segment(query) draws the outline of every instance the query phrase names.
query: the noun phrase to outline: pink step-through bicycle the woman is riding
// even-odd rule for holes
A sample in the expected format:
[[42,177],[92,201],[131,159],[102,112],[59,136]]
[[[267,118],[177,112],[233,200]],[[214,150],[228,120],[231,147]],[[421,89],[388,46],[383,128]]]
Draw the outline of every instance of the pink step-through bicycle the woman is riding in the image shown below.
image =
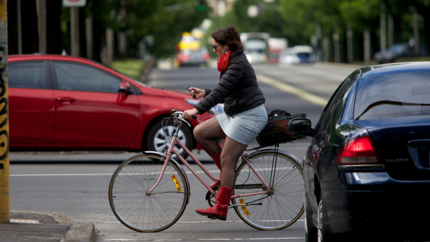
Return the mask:
[[[160,232],[173,225],[189,202],[190,188],[184,170],[171,158],[175,154],[207,188],[206,199],[214,205],[217,187],[209,185],[176,151],[183,148],[198,166],[217,180],[178,140],[183,112],[173,110],[176,132],[169,150],[146,151],[123,162],[112,175],[109,202],[115,216],[132,230]],[[167,144],[168,141],[166,141]],[[261,148],[261,147],[259,147]],[[282,230],[292,225],[304,211],[302,165],[296,157],[275,149],[241,155],[236,165],[236,184],[230,208],[248,225],[259,230]]]

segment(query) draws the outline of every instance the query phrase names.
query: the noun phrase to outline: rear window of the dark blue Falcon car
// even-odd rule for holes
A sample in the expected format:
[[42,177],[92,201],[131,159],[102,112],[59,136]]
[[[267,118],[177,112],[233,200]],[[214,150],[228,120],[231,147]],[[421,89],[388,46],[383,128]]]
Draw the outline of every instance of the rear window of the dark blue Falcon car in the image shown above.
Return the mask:
[[354,119],[430,115],[430,72],[370,76],[359,80]]

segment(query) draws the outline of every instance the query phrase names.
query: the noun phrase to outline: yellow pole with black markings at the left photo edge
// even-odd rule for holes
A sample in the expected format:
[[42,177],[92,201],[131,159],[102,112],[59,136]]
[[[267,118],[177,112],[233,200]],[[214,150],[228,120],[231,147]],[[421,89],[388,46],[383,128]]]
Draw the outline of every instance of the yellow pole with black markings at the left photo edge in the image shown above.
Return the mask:
[[8,123],[8,8],[0,0],[0,223],[10,222]]

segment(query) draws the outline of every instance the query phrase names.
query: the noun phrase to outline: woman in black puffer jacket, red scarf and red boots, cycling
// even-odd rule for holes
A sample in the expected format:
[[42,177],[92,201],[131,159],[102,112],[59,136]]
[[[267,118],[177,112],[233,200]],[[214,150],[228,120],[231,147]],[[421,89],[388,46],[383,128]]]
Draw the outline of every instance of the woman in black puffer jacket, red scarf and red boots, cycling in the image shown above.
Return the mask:
[[[229,26],[212,33],[212,46],[218,55],[218,84],[213,90],[190,87],[190,96],[203,99],[192,110],[184,111],[183,117],[191,119],[195,114],[203,114],[218,103],[224,103],[224,114],[200,123],[193,133],[221,170],[216,205],[196,209],[196,212],[225,220],[236,180],[236,161],[266,126],[268,117],[264,107],[266,99],[258,87],[254,69],[243,53],[243,44],[236,28]],[[216,139],[225,139],[223,149]],[[210,187],[216,185],[219,185],[218,182]]]

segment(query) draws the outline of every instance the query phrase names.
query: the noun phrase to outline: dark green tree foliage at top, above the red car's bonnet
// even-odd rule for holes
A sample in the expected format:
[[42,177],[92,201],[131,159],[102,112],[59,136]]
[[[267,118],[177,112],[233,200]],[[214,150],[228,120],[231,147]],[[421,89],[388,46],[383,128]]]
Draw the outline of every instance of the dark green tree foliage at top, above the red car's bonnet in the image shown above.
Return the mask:
[[[101,21],[103,28],[127,31],[131,53],[135,53],[139,42],[146,35],[153,35],[151,53],[166,57],[175,53],[183,32],[202,23],[207,18],[209,7],[199,11],[198,6],[188,6],[193,0],[89,0],[87,15]],[[166,6],[182,4],[182,8],[167,11]],[[200,6],[201,8],[201,6]],[[201,10],[201,9],[200,9]]]

